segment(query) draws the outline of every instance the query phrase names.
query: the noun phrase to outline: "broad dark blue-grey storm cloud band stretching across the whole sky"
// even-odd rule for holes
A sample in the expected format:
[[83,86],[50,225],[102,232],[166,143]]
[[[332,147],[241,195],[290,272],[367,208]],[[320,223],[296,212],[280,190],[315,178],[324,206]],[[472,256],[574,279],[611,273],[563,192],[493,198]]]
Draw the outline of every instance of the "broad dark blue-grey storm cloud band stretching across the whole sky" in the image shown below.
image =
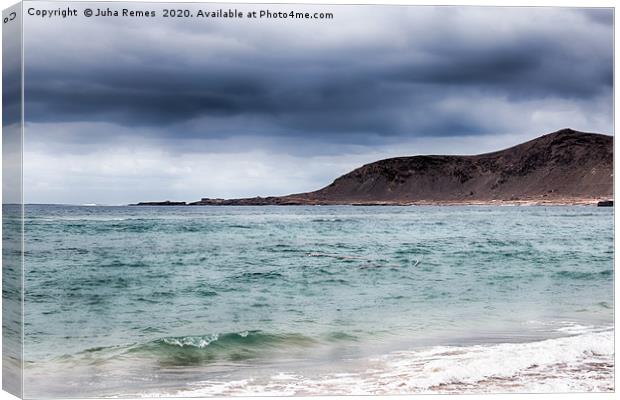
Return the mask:
[[[385,136],[505,128],[463,106],[446,106],[448,99],[472,109],[494,98],[578,106],[611,99],[613,27],[605,25],[611,10],[533,9],[531,24],[527,18],[513,24],[505,9],[476,10],[473,17],[445,13],[433,11],[424,35],[407,24],[393,27],[388,15],[378,23],[379,39],[323,47],[281,33],[254,41],[247,28],[219,33],[246,50],[200,42],[193,52],[174,50],[186,46],[175,36],[186,33],[177,25],[168,25],[159,43],[134,32],[135,47],[127,37],[111,36],[114,52],[90,49],[87,60],[52,55],[27,65],[26,116],[38,123],[152,127],[153,135],[175,139],[285,134],[369,144]],[[314,29],[310,35],[322,33]],[[37,46],[43,44],[26,51]]]

